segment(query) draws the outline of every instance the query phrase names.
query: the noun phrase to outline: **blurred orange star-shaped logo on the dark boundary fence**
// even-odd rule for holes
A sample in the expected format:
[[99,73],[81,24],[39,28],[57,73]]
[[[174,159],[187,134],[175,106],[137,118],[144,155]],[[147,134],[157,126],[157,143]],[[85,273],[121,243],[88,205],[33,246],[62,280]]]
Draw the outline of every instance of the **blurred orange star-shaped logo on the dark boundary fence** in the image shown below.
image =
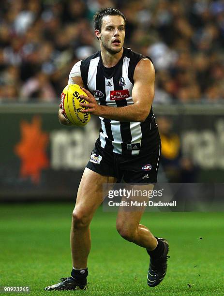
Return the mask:
[[48,134],[41,131],[41,118],[34,116],[32,122],[22,120],[20,123],[21,140],[15,146],[15,153],[21,159],[20,177],[30,177],[37,184],[41,170],[49,166],[46,155]]

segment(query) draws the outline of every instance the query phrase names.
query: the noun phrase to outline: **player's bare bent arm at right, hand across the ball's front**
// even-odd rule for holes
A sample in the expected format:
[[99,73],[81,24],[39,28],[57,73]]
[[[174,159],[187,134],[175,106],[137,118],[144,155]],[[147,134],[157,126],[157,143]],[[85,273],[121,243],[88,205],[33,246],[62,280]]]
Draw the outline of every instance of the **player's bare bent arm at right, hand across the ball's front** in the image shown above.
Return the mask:
[[87,93],[87,97],[81,97],[90,104],[80,104],[88,107],[82,112],[90,112],[96,116],[118,121],[145,121],[154,98],[155,69],[152,62],[147,58],[141,59],[135,67],[133,78],[132,99],[134,104],[119,108],[98,105],[93,95],[83,89]]

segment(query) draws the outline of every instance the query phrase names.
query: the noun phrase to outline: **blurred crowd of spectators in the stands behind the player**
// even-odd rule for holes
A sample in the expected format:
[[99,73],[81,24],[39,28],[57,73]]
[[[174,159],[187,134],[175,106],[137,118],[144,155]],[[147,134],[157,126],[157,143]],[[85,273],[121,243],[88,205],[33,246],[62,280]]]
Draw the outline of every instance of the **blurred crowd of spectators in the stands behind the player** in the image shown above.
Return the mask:
[[125,46],[153,60],[155,102],[224,102],[224,0],[1,1],[0,101],[58,102],[74,63],[99,50],[103,7],[126,15]]

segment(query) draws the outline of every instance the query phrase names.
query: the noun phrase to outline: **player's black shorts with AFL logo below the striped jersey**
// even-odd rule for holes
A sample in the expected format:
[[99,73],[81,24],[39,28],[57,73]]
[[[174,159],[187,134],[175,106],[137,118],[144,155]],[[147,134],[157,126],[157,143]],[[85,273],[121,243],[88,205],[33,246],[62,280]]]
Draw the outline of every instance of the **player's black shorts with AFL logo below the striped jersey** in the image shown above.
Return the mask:
[[108,152],[96,142],[86,167],[100,175],[115,177],[118,182],[156,183],[160,156],[160,143],[153,152],[126,156]]

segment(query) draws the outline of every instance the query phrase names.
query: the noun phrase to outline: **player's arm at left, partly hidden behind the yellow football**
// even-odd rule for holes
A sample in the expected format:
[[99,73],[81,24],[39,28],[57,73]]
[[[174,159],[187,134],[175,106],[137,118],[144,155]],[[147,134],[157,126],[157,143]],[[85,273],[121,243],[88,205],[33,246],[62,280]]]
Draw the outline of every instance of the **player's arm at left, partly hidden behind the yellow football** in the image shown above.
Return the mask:
[[[80,64],[81,61],[77,62],[70,74],[69,74],[69,84],[75,83],[79,85],[81,88],[84,88],[84,83],[81,77],[81,72],[80,72]],[[62,105],[60,104],[59,108],[59,122],[63,125],[72,125],[72,123],[65,117],[64,111],[62,110]]]

